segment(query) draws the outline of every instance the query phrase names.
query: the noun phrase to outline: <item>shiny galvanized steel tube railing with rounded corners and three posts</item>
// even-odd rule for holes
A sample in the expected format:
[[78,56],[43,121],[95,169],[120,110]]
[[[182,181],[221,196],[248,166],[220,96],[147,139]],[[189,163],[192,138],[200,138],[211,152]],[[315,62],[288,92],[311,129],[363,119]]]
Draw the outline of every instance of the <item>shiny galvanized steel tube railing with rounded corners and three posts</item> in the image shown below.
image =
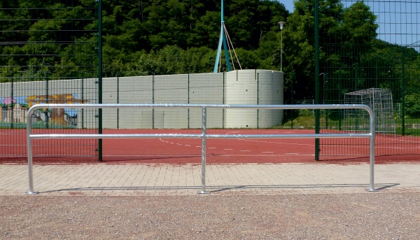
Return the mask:
[[[31,115],[38,108],[202,108],[201,134],[32,134]],[[207,134],[207,108],[253,108],[253,109],[364,109],[369,113],[370,130],[366,134]],[[369,138],[370,139],[370,181],[367,191],[374,189],[374,113],[372,108],[363,104],[313,104],[313,105],[229,105],[229,104],[36,104],[27,112],[27,150],[29,191],[34,195],[34,177],[32,162],[32,139],[202,139],[202,176],[201,190],[206,191],[206,139],[338,139]]]

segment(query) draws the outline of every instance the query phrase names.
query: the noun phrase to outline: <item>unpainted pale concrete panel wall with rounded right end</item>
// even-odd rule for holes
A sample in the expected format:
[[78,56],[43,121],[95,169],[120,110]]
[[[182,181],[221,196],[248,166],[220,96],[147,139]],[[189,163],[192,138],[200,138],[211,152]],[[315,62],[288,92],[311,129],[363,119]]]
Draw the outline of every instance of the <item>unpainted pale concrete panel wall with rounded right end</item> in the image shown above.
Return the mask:
[[[10,83],[0,84],[0,97],[10,97]],[[283,104],[283,73],[239,70],[228,73],[179,74],[103,78],[104,104]],[[97,103],[97,79],[49,80],[13,84],[13,96],[76,94]],[[97,109],[78,109],[79,128],[97,128]],[[201,128],[199,108],[104,109],[104,129]],[[282,110],[207,110],[209,128],[272,127],[281,122]]]

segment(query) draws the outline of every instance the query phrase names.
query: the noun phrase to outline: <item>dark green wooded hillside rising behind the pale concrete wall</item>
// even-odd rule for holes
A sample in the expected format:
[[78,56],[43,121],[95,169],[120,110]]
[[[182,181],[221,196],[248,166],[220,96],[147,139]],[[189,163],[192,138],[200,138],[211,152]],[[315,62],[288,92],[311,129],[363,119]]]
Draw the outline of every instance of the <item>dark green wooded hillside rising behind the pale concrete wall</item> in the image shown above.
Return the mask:
[[[243,69],[279,70],[278,22],[285,21],[283,71],[294,74],[293,83],[300,86],[297,99],[313,99],[314,1],[294,4],[289,13],[279,1],[226,0],[225,24]],[[103,0],[102,6],[104,76],[213,71],[220,0]],[[54,78],[78,77],[82,66],[97,65],[94,0],[1,0],[0,8],[2,76],[31,71],[40,78],[44,72]],[[407,74],[419,79],[419,52],[378,40],[377,17],[363,1],[344,8],[339,0],[319,0],[319,14],[321,69],[349,69],[375,59],[378,66],[393,69],[411,66]],[[402,52],[411,56],[404,63],[398,62]],[[383,74],[390,75],[384,85],[391,86],[402,73]],[[288,76],[286,91],[291,84]]]

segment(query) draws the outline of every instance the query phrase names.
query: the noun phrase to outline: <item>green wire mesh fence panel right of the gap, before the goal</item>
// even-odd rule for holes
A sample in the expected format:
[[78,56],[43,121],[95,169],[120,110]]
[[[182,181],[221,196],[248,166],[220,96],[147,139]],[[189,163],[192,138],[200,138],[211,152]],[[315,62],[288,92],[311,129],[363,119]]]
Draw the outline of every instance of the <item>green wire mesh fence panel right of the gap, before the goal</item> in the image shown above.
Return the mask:
[[[377,155],[420,154],[420,2],[342,4],[346,10],[339,15],[323,13],[342,25],[319,34],[321,103],[371,106]],[[320,132],[364,132],[367,119],[357,111],[322,111],[319,123]],[[356,155],[368,144],[322,139],[318,149],[320,156]]]

